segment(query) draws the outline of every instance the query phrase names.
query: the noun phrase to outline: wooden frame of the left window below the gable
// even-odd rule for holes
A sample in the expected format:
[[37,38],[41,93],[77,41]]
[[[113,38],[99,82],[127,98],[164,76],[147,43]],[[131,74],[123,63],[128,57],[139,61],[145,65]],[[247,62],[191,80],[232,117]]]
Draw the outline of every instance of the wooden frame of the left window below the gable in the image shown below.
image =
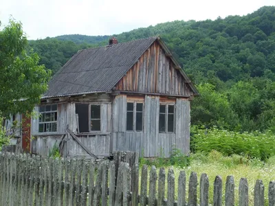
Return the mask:
[[[133,103],[133,130],[127,129],[128,103]],[[137,111],[137,104],[142,104],[142,111]],[[130,112],[130,111],[129,111]],[[137,113],[142,113],[142,130],[137,130]],[[144,131],[144,102],[127,100],[126,102],[126,132],[142,133]]]

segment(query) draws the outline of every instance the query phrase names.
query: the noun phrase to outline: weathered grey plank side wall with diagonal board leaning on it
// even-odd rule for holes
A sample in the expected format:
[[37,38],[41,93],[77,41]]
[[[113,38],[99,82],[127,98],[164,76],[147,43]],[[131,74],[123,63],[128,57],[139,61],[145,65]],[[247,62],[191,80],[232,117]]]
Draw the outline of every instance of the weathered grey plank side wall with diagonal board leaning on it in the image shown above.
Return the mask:
[[[101,131],[94,133],[78,134],[78,124],[76,120],[76,103],[100,103],[101,111]],[[38,113],[38,106],[35,111]],[[56,133],[39,133],[39,119],[32,118],[32,152],[42,156],[47,156],[54,144],[57,146],[63,135],[67,135],[66,128],[77,135],[78,140],[84,144],[91,153],[101,156],[109,156],[110,134],[111,134],[111,100],[109,95],[88,95],[72,98],[70,102],[58,104],[58,121]],[[66,156],[89,156],[72,137],[67,135]]]

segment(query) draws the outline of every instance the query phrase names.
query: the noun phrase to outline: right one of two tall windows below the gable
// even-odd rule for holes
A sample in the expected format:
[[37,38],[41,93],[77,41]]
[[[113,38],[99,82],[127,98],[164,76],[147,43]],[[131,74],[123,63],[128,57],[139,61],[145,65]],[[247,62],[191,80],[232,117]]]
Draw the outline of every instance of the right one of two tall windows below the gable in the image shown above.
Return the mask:
[[170,104],[159,105],[159,133],[174,133],[175,106]]

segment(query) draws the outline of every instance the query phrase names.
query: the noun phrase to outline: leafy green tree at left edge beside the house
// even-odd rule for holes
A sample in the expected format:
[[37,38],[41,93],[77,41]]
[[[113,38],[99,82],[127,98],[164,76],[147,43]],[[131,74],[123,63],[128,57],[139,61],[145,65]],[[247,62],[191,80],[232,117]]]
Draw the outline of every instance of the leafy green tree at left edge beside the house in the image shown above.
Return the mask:
[[47,89],[51,72],[38,65],[36,53],[26,52],[27,45],[20,22],[10,20],[0,30],[0,113],[3,116],[32,111]]

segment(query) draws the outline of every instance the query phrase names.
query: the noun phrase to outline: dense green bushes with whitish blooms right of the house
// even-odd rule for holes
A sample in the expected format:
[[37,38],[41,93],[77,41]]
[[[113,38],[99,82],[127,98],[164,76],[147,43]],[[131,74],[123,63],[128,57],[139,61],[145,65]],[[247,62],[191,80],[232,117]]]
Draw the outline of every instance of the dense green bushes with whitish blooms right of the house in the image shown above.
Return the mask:
[[271,132],[237,133],[217,128],[192,128],[193,152],[209,154],[216,150],[224,156],[241,155],[265,161],[275,155],[274,144],[275,135]]

